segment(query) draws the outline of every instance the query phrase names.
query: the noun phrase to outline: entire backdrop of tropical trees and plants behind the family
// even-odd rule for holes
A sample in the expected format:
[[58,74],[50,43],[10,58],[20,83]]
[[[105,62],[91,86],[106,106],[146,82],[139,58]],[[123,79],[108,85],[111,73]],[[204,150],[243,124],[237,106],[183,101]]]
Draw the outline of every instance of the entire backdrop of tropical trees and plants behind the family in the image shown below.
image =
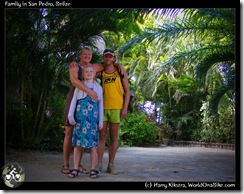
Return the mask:
[[[134,95],[120,145],[235,144],[235,8],[6,9],[6,145],[60,150],[68,64],[83,46],[116,51]],[[237,65],[236,65],[237,63]],[[237,87],[236,87],[237,86]]]

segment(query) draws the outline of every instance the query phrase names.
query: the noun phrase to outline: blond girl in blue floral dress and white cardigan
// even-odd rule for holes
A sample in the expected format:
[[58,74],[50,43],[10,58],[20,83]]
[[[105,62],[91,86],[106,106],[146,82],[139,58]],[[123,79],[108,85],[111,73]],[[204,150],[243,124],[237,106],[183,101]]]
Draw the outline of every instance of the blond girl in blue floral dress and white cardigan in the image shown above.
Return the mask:
[[90,96],[82,90],[75,88],[71,101],[68,119],[74,125],[72,133],[72,146],[74,147],[74,169],[68,174],[75,178],[79,173],[79,158],[84,148],[90,149],[90,177],[97,178],[96,154],[98,147],[98,128],[103,127],[103,92],[102,87],[96,82],[96,71],[88,65],[82,70],[84,84],[94,90],[98,95],[97,101],[92,101]]

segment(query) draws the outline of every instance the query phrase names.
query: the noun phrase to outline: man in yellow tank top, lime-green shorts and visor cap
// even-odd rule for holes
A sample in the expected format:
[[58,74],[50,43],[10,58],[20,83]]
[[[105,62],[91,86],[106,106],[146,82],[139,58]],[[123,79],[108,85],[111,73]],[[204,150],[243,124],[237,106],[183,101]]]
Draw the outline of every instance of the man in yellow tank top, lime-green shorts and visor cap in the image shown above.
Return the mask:
[[103,128],[99,131],[97,170],[102,170],[102,159],[109,125],[110,142],[108,147],[109,162],[107,172],[110,174],[117,174],[114,159],[119,146],[118,131],[120,119],[125,118],[127,115],[130,101],[130,88],[126,73],[124,73],[123,78],[121,78],[118,69],[114,66],[116,57],[113,50],[104,50],[103,61],[105,69],[98,74],[98,77],[100,76],[102,79],[104,117]]

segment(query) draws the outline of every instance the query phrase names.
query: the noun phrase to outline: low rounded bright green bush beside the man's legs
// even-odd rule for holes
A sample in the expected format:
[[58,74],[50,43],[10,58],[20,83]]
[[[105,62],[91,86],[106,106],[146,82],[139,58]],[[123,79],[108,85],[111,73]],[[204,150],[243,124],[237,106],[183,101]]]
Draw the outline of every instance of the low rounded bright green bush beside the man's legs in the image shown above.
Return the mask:
[[120,141],[126,142],[129,146],[154,145],[159,133],[144,112],[128,113],[122,120],[120,129]]

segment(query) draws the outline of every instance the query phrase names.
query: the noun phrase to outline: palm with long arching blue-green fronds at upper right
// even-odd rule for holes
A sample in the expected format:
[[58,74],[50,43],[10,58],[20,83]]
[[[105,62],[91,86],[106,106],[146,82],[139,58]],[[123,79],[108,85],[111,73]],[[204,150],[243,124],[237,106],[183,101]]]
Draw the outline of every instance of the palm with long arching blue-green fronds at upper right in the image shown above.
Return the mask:
[[[154,83],[161,83],[166,69],[170,71],[181,67],[196,77],[198,91],[205,95],[210,89],[206,85],[211,78],[208,72],[217,66],[217,73],[223,79],[215,80],[218,84],[211,88],[214,94],[209,99],[210,114],[216,115],[221,98],[230,93],[233,97],[235,93],[235,9],[162,9],[157,14],[167,17],[157,27],[145,29],[133,37],[120,52],[124,53],[137,43],[156,40],[167,57],[155,66],[152,73]],[[228,71],[223,71],[223,64]],[[154,86],[157,91],[160,84]]]

